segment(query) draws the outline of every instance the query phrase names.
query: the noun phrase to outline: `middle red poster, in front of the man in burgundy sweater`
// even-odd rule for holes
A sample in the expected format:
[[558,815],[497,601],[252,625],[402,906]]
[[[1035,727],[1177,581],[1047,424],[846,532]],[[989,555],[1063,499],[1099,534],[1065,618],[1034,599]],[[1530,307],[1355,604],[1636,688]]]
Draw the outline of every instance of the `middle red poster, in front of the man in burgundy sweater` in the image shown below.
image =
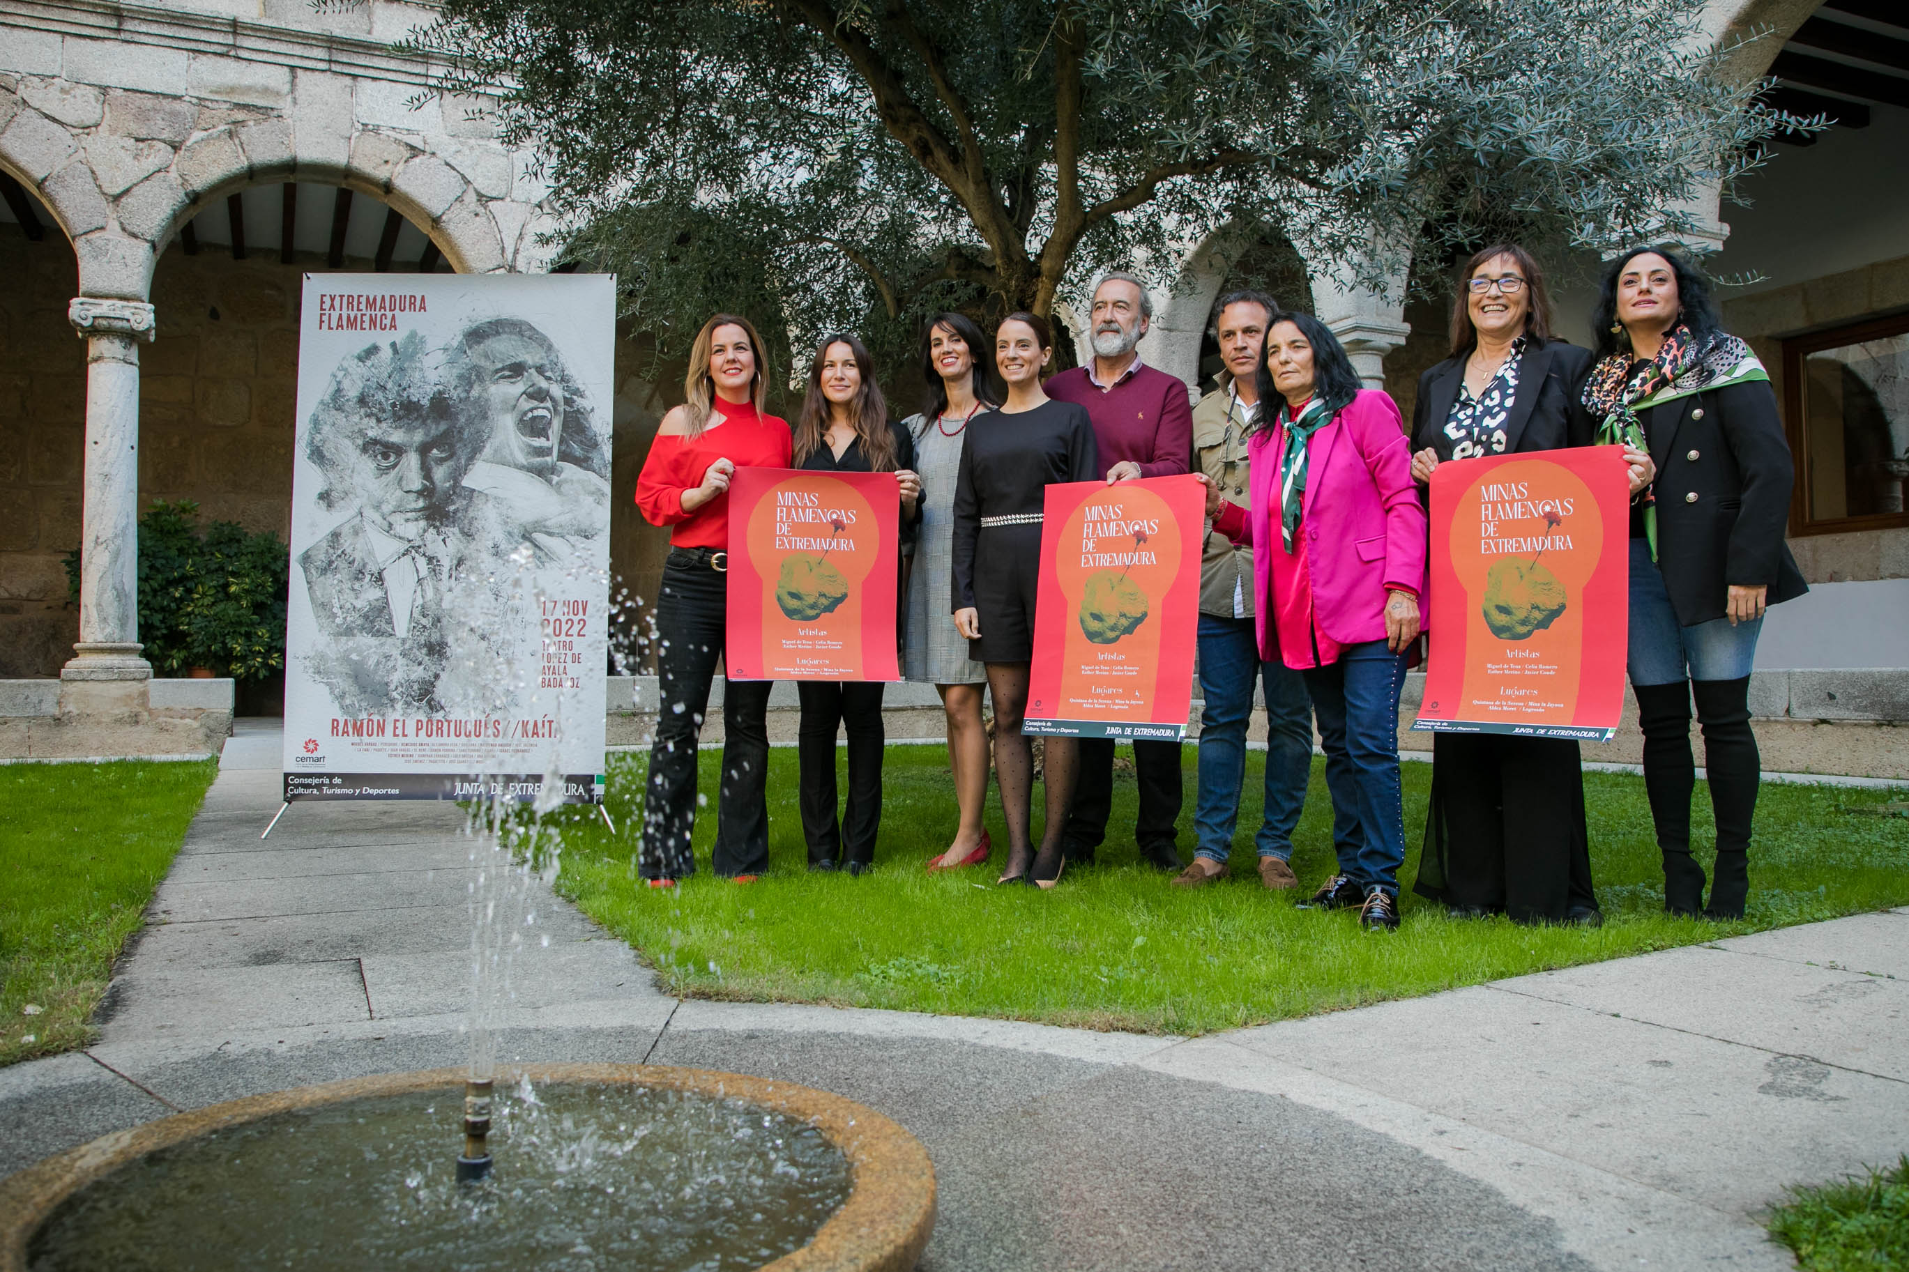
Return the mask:
[[1185,736],[1205,526],[1195,477],[1048,486],[1023,732]]

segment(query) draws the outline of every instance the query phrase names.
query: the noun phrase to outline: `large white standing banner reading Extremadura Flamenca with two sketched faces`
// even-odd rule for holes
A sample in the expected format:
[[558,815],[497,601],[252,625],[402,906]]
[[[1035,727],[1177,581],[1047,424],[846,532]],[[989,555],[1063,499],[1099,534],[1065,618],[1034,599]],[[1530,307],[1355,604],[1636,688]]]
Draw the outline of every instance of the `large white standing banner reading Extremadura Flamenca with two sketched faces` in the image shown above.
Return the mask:
[[613,339],[607,275],[305,275],[288,801],[601,801]]

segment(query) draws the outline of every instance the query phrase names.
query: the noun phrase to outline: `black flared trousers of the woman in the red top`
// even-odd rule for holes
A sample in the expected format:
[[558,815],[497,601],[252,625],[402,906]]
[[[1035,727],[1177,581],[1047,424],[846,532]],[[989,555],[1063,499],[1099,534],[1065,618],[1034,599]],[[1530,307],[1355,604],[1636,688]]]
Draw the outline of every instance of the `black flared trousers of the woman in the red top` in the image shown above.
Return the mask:
[[[710,681],[724,648],[727,578],[670,551],[657,601],[657,738],[649,748],[643,797],[643,849],[638,873],[682,879],[697,872],[689,849],[697,826],[697,740],[710,704]],[[725,681],[722,698],[722,791],[716,801],[718,875],[758,875],[769,868],[769,681]]]

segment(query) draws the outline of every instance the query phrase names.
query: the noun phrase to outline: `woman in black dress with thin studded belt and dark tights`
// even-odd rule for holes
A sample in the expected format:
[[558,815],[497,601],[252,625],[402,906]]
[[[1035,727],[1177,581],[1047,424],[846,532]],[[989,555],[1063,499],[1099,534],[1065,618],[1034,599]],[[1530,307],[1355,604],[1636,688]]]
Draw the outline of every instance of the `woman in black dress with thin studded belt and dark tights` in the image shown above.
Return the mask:
[[1040,574],[1040,513],[1050,482],[1098,481],[1100,452],[1084,406],[1054,402],[1040,370],[1054,357],[1046,318],[1014,313],[995,332],[995,366],[1008,402],[968,425],[954,484],[954,627],[987,666],[995,702],[995,780],[1008,824],[1002,883],[1054,887],[1061,877],[1061,831],[1073,803],[1077,748],[1048,738],[1048,824],[1040,852],[1029,839],[1035,757],[1021,732],[1027,669],[1035,656],[1035,584]]

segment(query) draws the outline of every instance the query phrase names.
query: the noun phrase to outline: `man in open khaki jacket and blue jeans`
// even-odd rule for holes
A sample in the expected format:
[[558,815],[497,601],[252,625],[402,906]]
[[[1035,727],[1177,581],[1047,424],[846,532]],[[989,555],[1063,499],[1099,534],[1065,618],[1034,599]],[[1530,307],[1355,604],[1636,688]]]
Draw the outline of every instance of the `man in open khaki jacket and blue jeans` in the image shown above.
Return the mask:
[[[1218,387],[1193,408],[1193,463],[1220,486],[1222,498],[1247,507],[1247,429],[1258,418],[1258,370],[1266,326],[1275,305],[1262,292],[1227,292],[1214,305],[1212,334],[1226,370]],[[1205,708],[1199,734],[1199,799],[1193,810],[1193,864],[1174,883],[1201,887],[1224,879],[1239,797],[1247,778],[1247,723],[1252,685],[1266,690],[1266,803],[1254,847],[1268,889],[1298,887],[1292,875],[1292,828],[1306,807],[1311,778],[1311,698],[1306,681],[1283,662],[1260,662],[1254,633],[1252,549],[1206,528],[1199,585],[1199,685]]]

